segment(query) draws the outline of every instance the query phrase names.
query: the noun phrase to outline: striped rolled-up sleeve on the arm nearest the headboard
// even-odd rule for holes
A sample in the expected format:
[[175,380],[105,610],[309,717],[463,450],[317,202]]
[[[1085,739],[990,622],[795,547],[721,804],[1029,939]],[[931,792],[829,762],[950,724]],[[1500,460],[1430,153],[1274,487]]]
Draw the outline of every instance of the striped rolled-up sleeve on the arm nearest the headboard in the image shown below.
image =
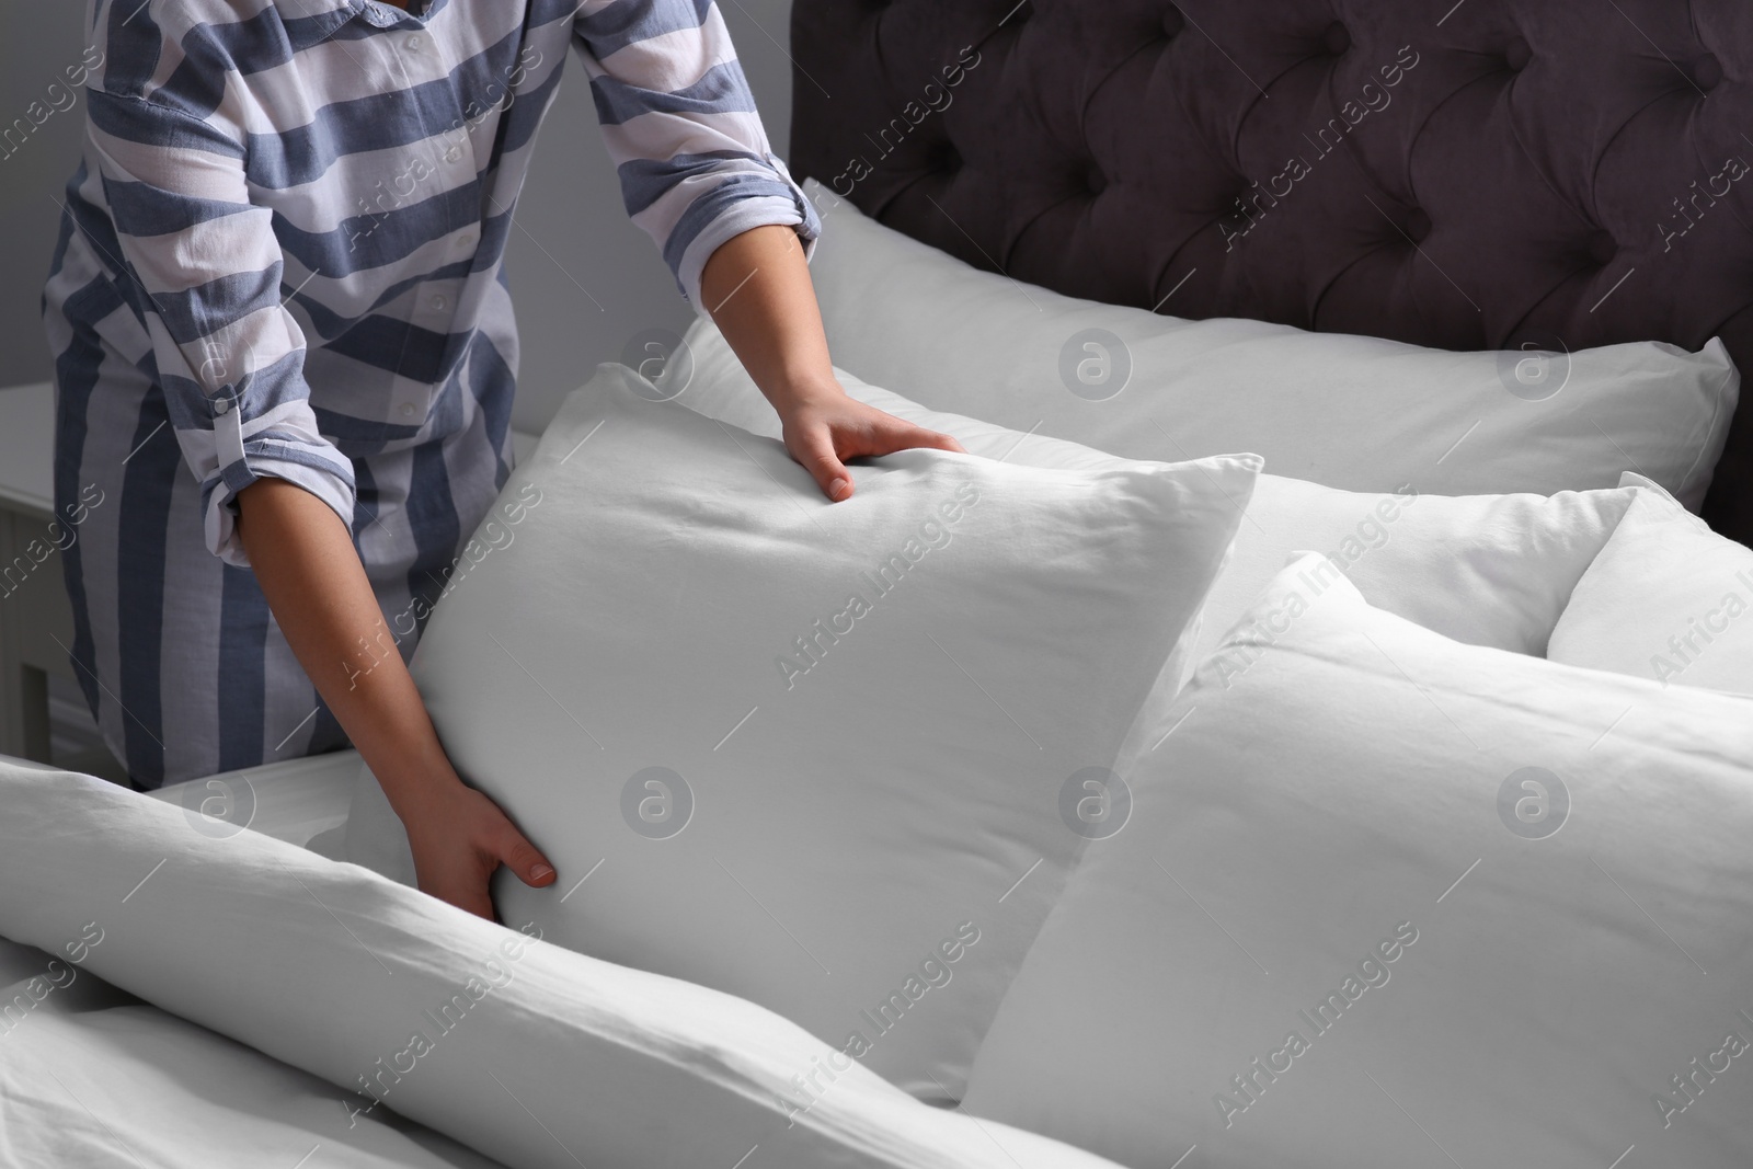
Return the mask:
[[589,0],[575,40],[628,216],[698,315],[699,275],[731,237],[794,226],[810,258],[822,223],[768,144],[715,4]]

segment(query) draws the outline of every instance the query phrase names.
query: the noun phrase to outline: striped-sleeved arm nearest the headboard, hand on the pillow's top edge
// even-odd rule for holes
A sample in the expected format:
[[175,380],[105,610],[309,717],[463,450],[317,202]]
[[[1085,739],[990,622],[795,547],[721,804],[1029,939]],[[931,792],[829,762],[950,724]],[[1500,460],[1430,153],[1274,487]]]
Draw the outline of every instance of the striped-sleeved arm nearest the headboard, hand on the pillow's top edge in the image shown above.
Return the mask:
[[622,202],[696,312],[710,315],[784,424],[785,449],[829,499],[841,459],[947,435],[847,396],[834,380],[799,237],[820,219],[773,154],[736,46],[699,0],[586,4],[575,26]]

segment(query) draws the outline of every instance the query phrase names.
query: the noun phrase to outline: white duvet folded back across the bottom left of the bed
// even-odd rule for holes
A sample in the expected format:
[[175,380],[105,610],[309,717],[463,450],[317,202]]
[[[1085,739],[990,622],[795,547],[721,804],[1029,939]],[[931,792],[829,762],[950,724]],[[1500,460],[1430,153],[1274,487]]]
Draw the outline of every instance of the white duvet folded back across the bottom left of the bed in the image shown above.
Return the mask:
[[927,1108],[742,999],[91,776],[0,762],[0,936],[40,950],[4,967],[32,1003],[0,1034],[5,1164],[493,1164],[391,1109],[515,1169],[1111,1164]]

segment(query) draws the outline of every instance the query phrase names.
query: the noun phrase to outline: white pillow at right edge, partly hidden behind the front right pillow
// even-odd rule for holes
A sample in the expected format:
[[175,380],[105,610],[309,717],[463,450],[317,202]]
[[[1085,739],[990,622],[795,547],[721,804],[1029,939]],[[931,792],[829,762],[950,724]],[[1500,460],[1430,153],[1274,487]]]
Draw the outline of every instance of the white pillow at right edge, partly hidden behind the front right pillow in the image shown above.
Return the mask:
[[1571,594],[1551,659],[1753,694],[1753,550],[1650,491]]

